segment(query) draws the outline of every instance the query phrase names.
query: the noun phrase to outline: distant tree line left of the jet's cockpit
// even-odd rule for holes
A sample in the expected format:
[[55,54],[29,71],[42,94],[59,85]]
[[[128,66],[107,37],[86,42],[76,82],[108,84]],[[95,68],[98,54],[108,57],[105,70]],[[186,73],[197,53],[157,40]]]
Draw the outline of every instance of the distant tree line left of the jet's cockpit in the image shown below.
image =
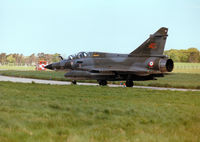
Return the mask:
[[60,54],[31,54],[30,56],[24,56],[23,54],[0,54],[0,65],[14,64],[14,65],[36,65],[38,61],[47,61],[48,63],[58,62]]

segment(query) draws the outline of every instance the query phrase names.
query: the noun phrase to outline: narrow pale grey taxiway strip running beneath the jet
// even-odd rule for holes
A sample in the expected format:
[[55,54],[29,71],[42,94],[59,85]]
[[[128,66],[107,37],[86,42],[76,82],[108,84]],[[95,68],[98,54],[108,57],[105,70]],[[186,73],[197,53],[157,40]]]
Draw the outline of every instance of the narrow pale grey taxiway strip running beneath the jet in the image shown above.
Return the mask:
[[[21,82],[21,83],[39,83],[39,84],[52,84],[52,85],[70,85],[71,82],[55,81],[55,80],[42,80],[32,78],[19,78],[0,75],[0,81]],[[93,85],[98,86],[97,83],[77,83],[77,85]],[[123,85],[109,84],[109,87],[123,87]],[[181,88],[164,88],[164,87],[150,87],[150,86],[134,86],[133,88],[144,88],[152,90],[171,90],[171,91],[200,91],[200,89],[181,89]]]

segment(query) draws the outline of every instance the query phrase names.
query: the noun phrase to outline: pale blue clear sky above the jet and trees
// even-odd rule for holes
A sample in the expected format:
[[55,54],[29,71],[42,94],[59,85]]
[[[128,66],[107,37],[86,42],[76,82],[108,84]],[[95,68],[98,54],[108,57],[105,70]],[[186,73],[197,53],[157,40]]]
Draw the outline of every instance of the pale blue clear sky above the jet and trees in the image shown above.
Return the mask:
[[200,50],[200,0],[0,0],[0,53],[130,53],[160,27]]

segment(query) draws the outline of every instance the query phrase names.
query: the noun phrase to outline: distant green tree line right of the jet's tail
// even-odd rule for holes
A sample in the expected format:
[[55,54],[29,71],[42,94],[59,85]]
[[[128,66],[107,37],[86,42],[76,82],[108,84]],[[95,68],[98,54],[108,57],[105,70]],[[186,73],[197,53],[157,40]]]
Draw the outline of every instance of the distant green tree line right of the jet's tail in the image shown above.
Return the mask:
[[197,48],[171,49],[164,52],[174,62],[200,63],[200,51]]

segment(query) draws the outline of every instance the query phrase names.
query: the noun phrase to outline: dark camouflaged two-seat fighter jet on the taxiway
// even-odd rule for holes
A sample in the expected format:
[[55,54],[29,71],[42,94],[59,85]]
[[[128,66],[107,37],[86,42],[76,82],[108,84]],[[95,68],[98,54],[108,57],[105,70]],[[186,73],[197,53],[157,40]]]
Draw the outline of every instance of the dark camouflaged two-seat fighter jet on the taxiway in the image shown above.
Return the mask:
[[64,76],[73,84],[77,80],[97,80],[105,86],[107,81],[126,81],[126,86],[132,87],[133,81],[155,80],[173,70],[173,60],[163,55],[167,32],[167,28],[160,28],[129,54],[80,52],[68,59],[61,57],[60,62],[45,68],[66,70]]

